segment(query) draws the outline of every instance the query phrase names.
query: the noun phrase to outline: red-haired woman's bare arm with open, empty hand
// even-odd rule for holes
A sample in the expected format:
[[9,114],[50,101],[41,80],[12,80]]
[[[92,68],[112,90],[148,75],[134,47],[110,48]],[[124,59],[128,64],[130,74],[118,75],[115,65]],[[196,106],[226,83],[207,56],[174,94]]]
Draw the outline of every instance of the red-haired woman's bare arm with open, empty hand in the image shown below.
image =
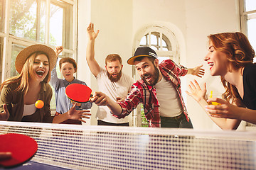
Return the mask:
[[[186,94],[188,94],[189,96],[192,96],[199,103],[199,105],[203,108],[203,110],[207,113],[207,115],[210,116],[210,119],[213,120],[213,122],[216,125],[218,125],[223,130],[235,130],[238,128],[238,125],[240,124],[241,120],[228,119],[228,118],[216,118],[216,116],[213,115],[211,111],[209,111],[208,107],[212,108],[214,106],[209,105],[208,102],[206,101],[206,83],[201,89],[198,82],[194,80],[194,82],[191,81],[188,87],[191,92],[186,91]],[[216,98],[213,98],[213,100],[215,99]],[[219,100],[222,100],[222,99],[219,98]],[[228,103],[228,101],[226,102]],[[225,107],[225,106],[221,106],[221,107]]]

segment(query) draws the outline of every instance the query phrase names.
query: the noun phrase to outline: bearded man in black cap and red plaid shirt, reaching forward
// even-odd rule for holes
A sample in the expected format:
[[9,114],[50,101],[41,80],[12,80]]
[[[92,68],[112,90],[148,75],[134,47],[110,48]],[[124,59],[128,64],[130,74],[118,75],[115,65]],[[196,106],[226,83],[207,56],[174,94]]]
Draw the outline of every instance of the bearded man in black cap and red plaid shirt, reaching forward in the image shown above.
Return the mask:
[[186,74],[202,77],[203,65],[186,69],[172,60],[164,60],[159,64],[156,52],[150,47],[138,47],[127,63],[135,65],[142,78],[132,85],[127,98],[116,103],[102,92],[95,92],[93,102],[107,106],[117,118],[124,118],[139,103],[143,103],[150,127],[193,128],[181,96],[179,77]]

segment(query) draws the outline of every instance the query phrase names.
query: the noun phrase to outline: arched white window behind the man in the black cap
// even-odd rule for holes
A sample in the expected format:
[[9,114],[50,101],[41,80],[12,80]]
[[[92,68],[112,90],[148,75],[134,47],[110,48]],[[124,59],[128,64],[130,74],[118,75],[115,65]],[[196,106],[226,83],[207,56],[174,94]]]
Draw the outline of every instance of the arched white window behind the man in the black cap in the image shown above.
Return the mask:
[[[171,30],[168,30],[162,26],[150,26],[142,30],[142,34],[138,36],[138,42],[136,47],[149,46],[156,51],[158,55],[159,63],[163,60],[174,60],[176,64],[180,61],[179,45],[176,36]],[[136,49],[135,49],[136,50]],[[136,77],[135,67],[133,66],[133,77]],[[148,122],[144,115],[143,105],[139,105],[137,108],[137,123],[142,123],[142,127],[148,127]],[[141,115],[141,116],[140,116]],[[134,120],[134,119],[133,119]],[[140,126],[140,125],[139,125]]]

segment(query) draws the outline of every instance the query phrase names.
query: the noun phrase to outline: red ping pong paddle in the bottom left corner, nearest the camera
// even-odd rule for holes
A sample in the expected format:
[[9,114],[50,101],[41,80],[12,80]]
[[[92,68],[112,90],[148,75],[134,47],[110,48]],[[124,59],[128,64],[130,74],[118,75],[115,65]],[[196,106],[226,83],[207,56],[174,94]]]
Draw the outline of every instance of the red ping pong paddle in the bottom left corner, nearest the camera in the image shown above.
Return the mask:
[[10,159],[0,160],[0,166],[11,167],[23,164],[36,154],[36,140],[17,133],[0,135],[0,152],[11,152]]

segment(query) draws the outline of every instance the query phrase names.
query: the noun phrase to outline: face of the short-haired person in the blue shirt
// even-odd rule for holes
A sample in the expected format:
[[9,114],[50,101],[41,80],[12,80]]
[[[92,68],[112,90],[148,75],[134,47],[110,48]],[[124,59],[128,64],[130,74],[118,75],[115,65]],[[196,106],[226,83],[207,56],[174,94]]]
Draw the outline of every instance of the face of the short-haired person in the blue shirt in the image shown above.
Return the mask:
[[61,74],[63,74],[63,77],[65,78],[66,81],[71,82],[74,79],[73,74],[75,73],[75,68],[73,64],[70,62],[63,62],[61,64],[60,68]]

